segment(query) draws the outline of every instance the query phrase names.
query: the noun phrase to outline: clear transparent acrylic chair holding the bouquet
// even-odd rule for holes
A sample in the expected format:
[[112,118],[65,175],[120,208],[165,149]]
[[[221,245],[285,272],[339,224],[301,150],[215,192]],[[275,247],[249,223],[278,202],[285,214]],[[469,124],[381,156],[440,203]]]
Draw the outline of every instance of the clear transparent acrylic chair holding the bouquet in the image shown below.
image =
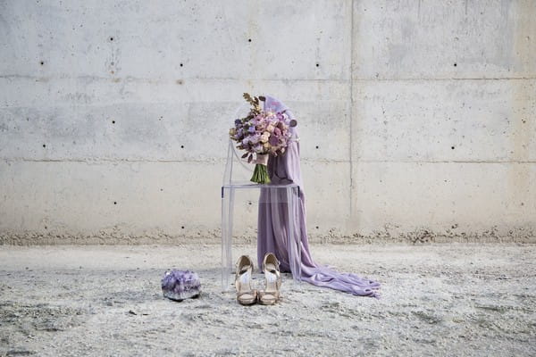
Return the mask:
[[[242,105],[239,107],[234,119],[247,115],[249,108],[248,105]],[[242,115],[240,115],[242,114]],[[235,142],[229,140],[229,146],[227,150],[227,162],[225,165],[225,172],[223,175],[222,184],[222,290],[230,290],[230,277],[234,272],[234,262],[231,253],[232,240],[233,240],[233,219],[235,196],[237,191],[257,191],[259,194],[258,203],[281,203],[281,206],[286,209],[287,217],[294,217],[297,215],[299,209],[299,186],[297,184],[289,185],[259,185],[250,182],[249,179],[253,174],[255,165],[247,163],[245,159],[241,159],[240,156],[243,153],[239,153],[235,147]],[[261,190],[264,191],[264,195],[261,194]],[[299,284],[301,280],[301,233],[299,225],[294,224],[295,220],[289,219],[288,224],[284,229],[286,230],[286,245],[287,252],[289,254],[289,266],[292,278],[295,286]],[[256,231],[256,221],[255,230]],[[273,224],[274,222],[272,222]],[[260,267],[262,262],[257,262],[257,267]],[[234,276],[233,276],[234,277]]]

